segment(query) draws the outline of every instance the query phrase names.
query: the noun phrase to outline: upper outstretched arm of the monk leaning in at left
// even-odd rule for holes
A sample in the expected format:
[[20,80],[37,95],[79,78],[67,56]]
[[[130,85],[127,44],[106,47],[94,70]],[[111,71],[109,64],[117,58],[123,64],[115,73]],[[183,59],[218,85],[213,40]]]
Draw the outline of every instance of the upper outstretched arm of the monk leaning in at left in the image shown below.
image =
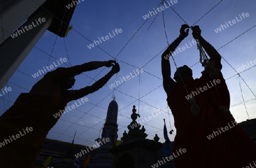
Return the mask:
[[97,68],[106,66],[111,67],[112,63],[116,63],[113,60],[110,61],[92,61],[84,64],[80,64],[68,68],[57,68],[57,70],[51,72],[51,76],[56,78],[72,77],[81,74],[82,72],[96,70]]

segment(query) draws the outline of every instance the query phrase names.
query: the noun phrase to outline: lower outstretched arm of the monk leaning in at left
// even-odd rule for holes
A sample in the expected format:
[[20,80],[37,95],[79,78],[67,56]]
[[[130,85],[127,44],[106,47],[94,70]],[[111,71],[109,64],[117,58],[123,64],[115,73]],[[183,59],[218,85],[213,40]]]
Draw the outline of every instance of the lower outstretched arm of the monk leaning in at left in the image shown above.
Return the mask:
[[108,74],[106,74],[104,77],[102,77],[100,80],[96,81],[93,85],[79,89],[79,90],[68,91],[70,95],[69,101],[77,100],[81,97],[86,96],[87,94],[98,91],[98,89],[102,88],[114,74],[119,72],[119,70],[120,70],[119,64],[115,63],[114,66],[112,67],[112,70]]

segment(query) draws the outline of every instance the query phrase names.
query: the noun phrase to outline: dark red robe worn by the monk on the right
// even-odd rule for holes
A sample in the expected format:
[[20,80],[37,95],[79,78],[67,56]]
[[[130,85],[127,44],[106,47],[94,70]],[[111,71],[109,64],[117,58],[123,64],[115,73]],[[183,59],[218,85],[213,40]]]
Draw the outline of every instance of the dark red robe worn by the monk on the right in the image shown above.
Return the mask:
[[[221,70],[220,61],[210,61],[214,61],[215,67]],[[213,79],[219,79],[220,82],[215,85]],[[188,93],[194,92],[196,104],[200,107],[199,115],[192,114],[191,105],[185,98],[188,93],[182,82],[177,83],[168,94],[167,102],[174,115],[176,127],[172,151],[175,153],[180,148],[187,150],[174,158],[176,168],[242,168],[256,162],[255,143],[235,123],[231,113],[224,113],[219,109],[220,106],[227,109],[230,106],[225,79],[221,73],[213,79],[204,73],[199,79],[184,80]],[[204,86],[207,89],[202,89],[201,92],[200,87]]]

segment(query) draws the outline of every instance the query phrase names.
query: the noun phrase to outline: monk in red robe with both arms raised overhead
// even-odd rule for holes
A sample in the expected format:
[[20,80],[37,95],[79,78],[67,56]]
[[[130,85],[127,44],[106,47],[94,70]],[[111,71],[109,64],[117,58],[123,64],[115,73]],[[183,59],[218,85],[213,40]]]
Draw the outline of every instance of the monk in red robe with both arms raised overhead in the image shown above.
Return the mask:
[[[181,26],[180,36],[162,55],[163,88],[176,127],[172,149],[175,167],[256,167],[256,145],[229,111],[230,97],[221,73],[221,55],[201,36],[199,26],[192,27],[192,35],[210,57],[202,76],[193,79],[191,68],[184,65],[177,68],[174,80],[171,78],[166,55],[173,53],[188,36],[188,28]],[[187,152],[180,153],[180,149]]]

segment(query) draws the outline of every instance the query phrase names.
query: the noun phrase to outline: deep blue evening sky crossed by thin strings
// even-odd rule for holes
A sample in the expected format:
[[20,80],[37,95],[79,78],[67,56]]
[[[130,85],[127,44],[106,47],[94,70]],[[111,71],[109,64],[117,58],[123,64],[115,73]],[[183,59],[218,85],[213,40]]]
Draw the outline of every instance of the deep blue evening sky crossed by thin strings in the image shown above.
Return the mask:
[[[192,25],[212,7],[217,5],[218,2],[220,1],[197,0],[184,2],[178,0],[175,5],[172,5],[172,8],[174,8],[189,25]],[[130,75],[130,73],[136,71],[137,68],[143,68],[144,72],[141,73],[141,77],[135,76],[127,80],[114,91],[119,110],[117,121],[119,130],[118,139],[122,137],[122,133],[125,130],[127,131],[127,125],[131,122],[131,110],[133,109],[133,105],[135,105],[141,118],[148,117],[151,113],[158,113],[161,110],[164,111],[164,113],[160,113],[158,117],[154,117],[148,121],[144,120],[144,127],[146,128],[148,139],[153,139],[155,133],[157,133],[160,137],[160,141],[164,141],[163,118],[165,118],[168,131],[170,131],[170,123],[174,130],[174,135],[169,135],[170,139],[174,140],[176,134],[174,118],[171,114],[171,110],[167,108],[167,96],[161,86],[162,74],[160,55],[168,44],[164,34],[162,14],[164,12],[169,44],[179,36],[179,29],[181,24],[184,24],[184,21],[181,20],[171,8],[166,8],[164,11],[159,12],[156,20],[148,29],[155,16],[150,17],[147,21],[144,20],[142,16],[148,14],[148,11],[153,11],[153,8],[158,6],[159,3],[160,1],[152,0],[123,2],[81,1],[81,3],[76,6],[76,10],[72,16],[70,25],[73,25],[73,29],[68,33],[67,37],[64,39],[57,37],[55,43],[56,35],[48,31],[44,33],[36,44],[36,47],[51,54],[53,44],[55,44],[49,64],[53,64],[53,62],[56,63],[56,59],[59,60],[60,58],[69,57],[71,65],[75,66],[76,64],[89,61],[108,61],[109,59],[113,59],[112,57],[115,58],[117,56],[117,62],[121,67],[117,76],[114,75],[109,80],[108,84],[99,91],[86,96],[88,102],[63,114],[52,130],[49,131],[47,135],[49,139],[71,142],[73,134],[77,131],[75,143],[82,145],[95,144],[94,140],[97,139],[99,134],[101,135],[101,127],[106,118],[109,102],[112,101],[113,89],[110,89],[108,85],[113,84],[115,80],[119,80],[119,77],[122,78],[123,76]],[[218,50],[226,60],[225,62],[224,59],[222,59],[222,74],[225,79],[228,79],[226,83],[230,92],[230,111],[237,122],[248,119],[247,113],[250,118],[256,118],[254,110],[256,107],[254,96],[254,94],[256,94],[254,77],[256,68],[253,67],[249,69],[249,67],[245,67],[242,70],[246,71],[241,73],[242,78],[254,94],[251,93],[242,79],[238,76],[234,76],[237,73],[233,70],[233,68],[237,70],[242,67],[242,64],[245,65],[247,62],[256,59],[256,27],[253,27],[256,25],[255,7],[256,2],[253,0],[224,0],[196,23],[202,30],[201,35],[216,49],[221,48],[229,41],[232,41],[251,28],[236,40]],[[243,12],[249,13],[249,17],[241,20],[239,15]],[[225,21],[232,21],[236,19],[236,17],[240,20],[236,24],[230,25],[218,33],[214,31],[214,29],[220,27],[221,24],[225,24]],[[144,23],[144,21],[146,21],[146,23]],[[106,36],[112,33],[112,30],[114,31],[116,28],[121,28],[122,33],[98,45],[112,55],[112,57],[99,48],[94,47],[89,49],[87,47],[91,42],[86,40],[86,38],[91,41],[98,40],[98,37]],[[137,32],[138,29],[139,31]],[[135,32],[137,33],[135,34]],[[190,29],[189,36],[181,42],[180,47],[185,46],[185,44],[189,45],[189,41],[191,42],[193,39],[191,33],[192,31]],[[135,36],[133,37],[134,34]],[[130,40],[131,37],[133,38]],[[129,40],[130,42],[127,44]],[[125,46],[125,48],[123,48],[123,46]],[[121,51],[122,48],[123,50]],[[119,53],[119,51],[121,51],[121,53]],[[34,48],[31,50],[30,54],[27,55],[27,58],[24,59],[23,63],[20,64],[18,71],[15,72],[6,85],[6,87],[11,87],[12,91],[0,97],[0,114],[3,114],[5,110],[13,105],[20,93],[30,91],[36,81],[43,77],[43,75],[41,75],[34,79],[32,74],[35,74],[38,70],[42,70],[43,67],[47,65],[49,55],[46,53]],[[192,46],[175,55],[174,59],[177,66],[187,64],[190,67],[199,61],[199,50],[196,49],[196,46]],[[172,59],[170,59],[170,62],[173,77],[176,67]],[[65,63],[67,64],[61,65],[68,67],[69,61]],[[255,66],[255,64],[256,61],[251,67]],[[93,84],[94,81],[91,81],[91,78],[95,77],[94,79],[98,80],[108,73],[111,68],[102,70],[103,68],[99,68],[98,70],[85,72],[84,74],[87,76],[82,74],[76,76],[76,84],[73,89],[80,89],[86,85]],[[193,77],[197,78],[200,77],[200,72],[203,71],[203,67],[198,63],[192,67],[192,70]],[[99,72],[100,74],[98,74]],[[229,79],[229,77],[232,78]],[[247,113],[245,105],[243,105],[242,95],[244,100],[247,101],[245,103]],[[68,105],[71,104],[72,103],[69,103]],[[168,112],[170,113],[170,121]]]

